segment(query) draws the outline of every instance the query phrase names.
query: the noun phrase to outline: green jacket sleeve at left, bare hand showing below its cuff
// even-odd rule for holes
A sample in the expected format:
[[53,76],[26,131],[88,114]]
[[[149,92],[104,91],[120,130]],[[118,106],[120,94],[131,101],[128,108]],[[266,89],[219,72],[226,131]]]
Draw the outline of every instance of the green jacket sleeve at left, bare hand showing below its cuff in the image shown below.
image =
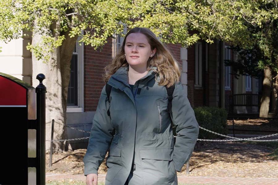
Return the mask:
[[113,126],[107,114],[108,108],[109,101],[104,86],[93,118],[87,152],[83,158],[84,175],[91,173],[98,174],[99,166],[103,162],[110,146],[113,137],[111,134]]

